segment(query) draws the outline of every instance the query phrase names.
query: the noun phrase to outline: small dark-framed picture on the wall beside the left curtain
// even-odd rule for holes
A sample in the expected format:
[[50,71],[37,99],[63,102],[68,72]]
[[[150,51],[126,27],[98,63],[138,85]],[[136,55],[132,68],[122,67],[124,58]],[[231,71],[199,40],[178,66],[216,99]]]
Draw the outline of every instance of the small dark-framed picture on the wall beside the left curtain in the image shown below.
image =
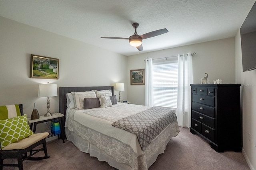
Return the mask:
[[145,85],[145,69],[130,71],[131,85]]

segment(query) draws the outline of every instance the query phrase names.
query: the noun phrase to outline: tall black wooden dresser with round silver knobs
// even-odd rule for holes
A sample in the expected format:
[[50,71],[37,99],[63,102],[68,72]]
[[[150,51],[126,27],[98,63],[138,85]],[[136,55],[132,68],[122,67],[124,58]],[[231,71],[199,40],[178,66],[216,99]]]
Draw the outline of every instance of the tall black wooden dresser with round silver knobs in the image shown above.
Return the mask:
[[241,84],[190,84],[191,128],[217,152],[242,150]]

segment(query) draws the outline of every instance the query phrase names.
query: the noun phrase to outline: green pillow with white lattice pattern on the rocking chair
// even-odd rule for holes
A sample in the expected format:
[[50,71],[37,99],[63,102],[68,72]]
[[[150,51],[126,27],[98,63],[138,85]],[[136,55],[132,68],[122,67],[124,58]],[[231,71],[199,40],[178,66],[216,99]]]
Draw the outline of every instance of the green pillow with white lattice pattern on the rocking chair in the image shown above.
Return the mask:
[[32,134],[33,132],[28,125],[27,115],[0,120],[1,149]]

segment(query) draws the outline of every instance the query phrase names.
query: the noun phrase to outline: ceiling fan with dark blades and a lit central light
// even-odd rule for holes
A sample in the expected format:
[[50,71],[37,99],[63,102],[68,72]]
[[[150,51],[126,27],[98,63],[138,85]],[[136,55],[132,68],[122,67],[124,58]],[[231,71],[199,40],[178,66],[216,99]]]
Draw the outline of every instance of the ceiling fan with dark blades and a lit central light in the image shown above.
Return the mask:
[[142,51],[143,50],[142,39],[147,39],[147,38],[155,37],[157,35],[168,33],[168,30],[166,28],[164,28],[164,29],[158,29],[156,31],[152,31],[152,32],[149,32],[149,33],[145,33],[145,34],[142,34],[142,35],[138,35],[137,34],[137,28],[138,28],[139,24],[138,23],[133,23],[132,26],[134,27],[135,32],[129,38],[121,38],[121,37],[100,37],[100,38],[128,39],[130,45],[132,45],[133,47],[136,47],[138,49],[138,51]]

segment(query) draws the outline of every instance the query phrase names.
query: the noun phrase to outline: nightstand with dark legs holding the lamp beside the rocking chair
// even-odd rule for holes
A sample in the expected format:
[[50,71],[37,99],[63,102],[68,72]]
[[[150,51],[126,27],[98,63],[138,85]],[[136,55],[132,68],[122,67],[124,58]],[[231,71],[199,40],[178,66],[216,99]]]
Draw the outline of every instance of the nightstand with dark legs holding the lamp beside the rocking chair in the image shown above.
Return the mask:
[[[30,123],[30,129],[31,130],[32,130],[32,127],[33,127],[33,124],[34,124],[33,132],[36,133],[36,125],[38,123],[44,123],[44,122],[47,122],[47,121],[53,121],[53,120],[58,119],[59,123],[60,123],[60,135],[58,135],[58,139],[61,138],[63,143],[65,143],[64,134],[63,134],[63,131],[62,131],[62,117],[64,117],[64,115],[61,114],[61,113],[53,113],[52,116],[48,116],[48,117],[45,117],[44,115],[42,115],[42,116],[39,117],[39,119],[31,120],[30,118],[28,118],[28,123]],[[55,135],[50,133],[49,136],[46,137],[46,138],[53,137],[53,136],[55,136]]]

